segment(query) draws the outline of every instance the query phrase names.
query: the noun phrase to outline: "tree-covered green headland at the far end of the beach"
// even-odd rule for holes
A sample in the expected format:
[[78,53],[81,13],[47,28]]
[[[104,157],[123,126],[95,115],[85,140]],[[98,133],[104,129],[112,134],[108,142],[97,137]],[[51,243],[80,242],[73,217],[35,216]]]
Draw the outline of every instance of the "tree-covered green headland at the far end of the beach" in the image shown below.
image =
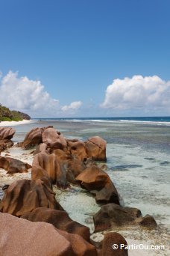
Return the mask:
[[22,121],[23,119],[30,120],[31,117],[28,114],[10,110],[6,106],[2,106],[0,103],[0,122],[1,121]]

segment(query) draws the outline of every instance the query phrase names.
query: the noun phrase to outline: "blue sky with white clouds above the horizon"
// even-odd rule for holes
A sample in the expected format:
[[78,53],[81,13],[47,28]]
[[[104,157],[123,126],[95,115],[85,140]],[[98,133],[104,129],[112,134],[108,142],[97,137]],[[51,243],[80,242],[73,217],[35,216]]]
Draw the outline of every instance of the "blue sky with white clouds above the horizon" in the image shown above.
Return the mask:
[[169,0],[0,0],[0,103],[32,118],[170,116]]

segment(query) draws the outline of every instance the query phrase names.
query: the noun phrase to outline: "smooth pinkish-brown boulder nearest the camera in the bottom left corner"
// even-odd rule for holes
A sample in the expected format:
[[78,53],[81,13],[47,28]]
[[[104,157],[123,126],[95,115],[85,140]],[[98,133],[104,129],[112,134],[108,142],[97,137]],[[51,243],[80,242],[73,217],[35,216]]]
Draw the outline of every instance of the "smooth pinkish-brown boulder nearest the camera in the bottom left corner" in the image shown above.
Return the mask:
[[96,256],[95,246],[78,234],[69,234],[45,222],[29,222],[0,213],[1,255]]

